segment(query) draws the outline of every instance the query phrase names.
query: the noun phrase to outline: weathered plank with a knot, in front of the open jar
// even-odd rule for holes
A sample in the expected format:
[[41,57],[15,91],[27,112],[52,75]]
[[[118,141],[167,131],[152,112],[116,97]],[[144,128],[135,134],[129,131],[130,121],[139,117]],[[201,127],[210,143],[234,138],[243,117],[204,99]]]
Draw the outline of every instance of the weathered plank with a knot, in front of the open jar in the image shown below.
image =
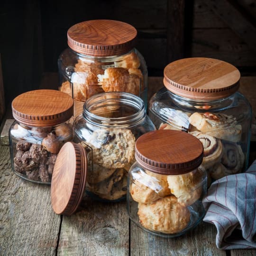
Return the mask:
[[58,255],[129,255],[126,202],[103,203],[88,197],[83,210],[64,216]]

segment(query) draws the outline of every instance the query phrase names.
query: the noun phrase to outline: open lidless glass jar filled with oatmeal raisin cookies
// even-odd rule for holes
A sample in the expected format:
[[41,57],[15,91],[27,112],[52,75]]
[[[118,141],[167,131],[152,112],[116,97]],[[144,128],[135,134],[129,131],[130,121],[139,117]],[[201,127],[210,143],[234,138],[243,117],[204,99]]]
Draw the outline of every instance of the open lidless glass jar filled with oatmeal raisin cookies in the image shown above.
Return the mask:
[[139,97],[127,92],[91,96],[73,124],[73,141],[85,148],[89,159],[86,192],[102,201],[125,199],[136,139],[152,130]]

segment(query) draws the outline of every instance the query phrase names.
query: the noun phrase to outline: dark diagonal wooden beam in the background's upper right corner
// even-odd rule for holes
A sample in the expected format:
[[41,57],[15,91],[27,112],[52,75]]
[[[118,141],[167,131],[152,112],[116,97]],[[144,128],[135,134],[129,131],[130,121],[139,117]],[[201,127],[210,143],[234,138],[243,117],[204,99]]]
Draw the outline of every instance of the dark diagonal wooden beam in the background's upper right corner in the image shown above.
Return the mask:
[[[256,27],[234,2],[208,0],[205,3],[254,51],[256,51]],[[234,18],[235,17],[235,18]]]

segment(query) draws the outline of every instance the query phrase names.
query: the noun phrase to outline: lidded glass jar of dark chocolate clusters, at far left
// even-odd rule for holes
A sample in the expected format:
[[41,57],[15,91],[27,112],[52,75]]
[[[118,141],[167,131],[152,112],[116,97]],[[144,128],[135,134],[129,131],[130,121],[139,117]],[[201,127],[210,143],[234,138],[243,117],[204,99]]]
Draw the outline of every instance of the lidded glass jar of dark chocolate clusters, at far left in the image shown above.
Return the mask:
[[12,101],[12,115],[9,141],[14,173],[50,184],[58,152],[73,138],[72,97],[57,90],[28,91]]

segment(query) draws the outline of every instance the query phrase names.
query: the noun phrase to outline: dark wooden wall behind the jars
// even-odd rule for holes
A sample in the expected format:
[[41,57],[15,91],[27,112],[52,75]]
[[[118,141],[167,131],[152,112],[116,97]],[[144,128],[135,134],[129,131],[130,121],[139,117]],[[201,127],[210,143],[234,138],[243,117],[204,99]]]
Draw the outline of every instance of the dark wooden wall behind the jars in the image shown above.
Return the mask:
[[37,89],[44,73],[57,72],[69,27],[97,18],[137,28],[150,76],[163,76],[165,65],[191,56],[222,59],[244,76],[256,75],[256,0],[1,0],[5,104]]

